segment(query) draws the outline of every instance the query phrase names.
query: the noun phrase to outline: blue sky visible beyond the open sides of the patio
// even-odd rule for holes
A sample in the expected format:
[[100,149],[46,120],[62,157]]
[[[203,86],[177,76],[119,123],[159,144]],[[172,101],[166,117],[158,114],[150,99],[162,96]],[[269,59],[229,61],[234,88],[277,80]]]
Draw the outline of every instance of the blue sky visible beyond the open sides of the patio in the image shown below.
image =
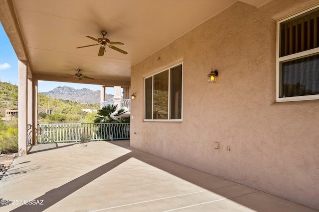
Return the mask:
[[[10,82],[18,85],[18,59],[11,46],[8,37],[0,22],[0,81]],[[53,81],[38,81],[38,91],[48,92],[58,86],[68,86],[76,89],[88,88],[91,90],[100,90],[100,85],[66,83]],[[113,88],[106,88],[107,94],[114,94]]]

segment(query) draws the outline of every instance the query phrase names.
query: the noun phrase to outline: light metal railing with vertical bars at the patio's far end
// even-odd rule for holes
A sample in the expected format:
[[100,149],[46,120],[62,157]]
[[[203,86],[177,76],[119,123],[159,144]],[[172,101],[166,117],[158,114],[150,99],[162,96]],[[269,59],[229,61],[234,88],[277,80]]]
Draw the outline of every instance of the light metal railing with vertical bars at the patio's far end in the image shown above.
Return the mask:
[[130,139],[130,123],[39,124],[38,142]]

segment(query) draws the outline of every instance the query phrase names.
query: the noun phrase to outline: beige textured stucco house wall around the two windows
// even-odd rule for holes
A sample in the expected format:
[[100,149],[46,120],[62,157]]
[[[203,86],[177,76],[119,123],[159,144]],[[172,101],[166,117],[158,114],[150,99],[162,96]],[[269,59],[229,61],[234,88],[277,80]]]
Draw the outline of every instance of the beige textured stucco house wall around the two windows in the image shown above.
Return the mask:
[[[319,209],[319,100],[275,102],[276,21],[316,3],[238,1],[135,65],[131,146]],[[183,121],[144,122],[144,77],[180,61]]]

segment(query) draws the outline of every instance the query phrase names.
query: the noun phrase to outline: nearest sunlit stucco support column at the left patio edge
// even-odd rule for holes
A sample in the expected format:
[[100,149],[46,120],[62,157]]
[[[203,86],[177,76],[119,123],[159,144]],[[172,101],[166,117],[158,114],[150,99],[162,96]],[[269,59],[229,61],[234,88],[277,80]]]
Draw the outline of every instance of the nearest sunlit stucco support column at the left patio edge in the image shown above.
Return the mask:
[[18,61],[18,155],[27,154],[27,67]]

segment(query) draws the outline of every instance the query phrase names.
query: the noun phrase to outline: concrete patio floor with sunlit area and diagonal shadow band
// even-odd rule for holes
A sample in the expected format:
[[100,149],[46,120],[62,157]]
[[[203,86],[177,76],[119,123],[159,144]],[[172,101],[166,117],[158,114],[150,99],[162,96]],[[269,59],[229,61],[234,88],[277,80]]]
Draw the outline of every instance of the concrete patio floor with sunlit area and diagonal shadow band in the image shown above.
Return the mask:
[[1,203],[10,203],[0,211],[316,212],[136,150],[129,141],[85,144],[40,144],[15,159],[0,180]]

